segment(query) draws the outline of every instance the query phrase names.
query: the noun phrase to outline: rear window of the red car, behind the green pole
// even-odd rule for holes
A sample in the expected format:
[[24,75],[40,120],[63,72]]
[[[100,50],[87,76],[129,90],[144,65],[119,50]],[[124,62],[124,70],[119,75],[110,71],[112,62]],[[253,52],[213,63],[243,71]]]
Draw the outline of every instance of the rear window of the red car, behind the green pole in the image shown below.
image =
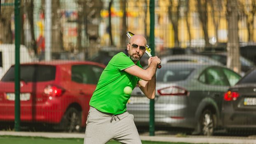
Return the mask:
[[[25,82],[52,81],[56,67],[52,65],[21,65],[21,80]],[[14,81],[14,66],[5,73],[1,81]]]

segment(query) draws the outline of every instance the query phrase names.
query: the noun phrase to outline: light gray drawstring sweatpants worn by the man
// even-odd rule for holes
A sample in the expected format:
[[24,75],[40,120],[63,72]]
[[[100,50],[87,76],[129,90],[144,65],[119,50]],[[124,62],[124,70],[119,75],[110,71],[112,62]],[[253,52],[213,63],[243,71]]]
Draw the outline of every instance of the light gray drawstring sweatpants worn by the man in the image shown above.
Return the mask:
[[142,144],[133,115],[127,111],[112,115],[90,107],[84,137],[84,144],[106,144],[115,139],[122,144]]

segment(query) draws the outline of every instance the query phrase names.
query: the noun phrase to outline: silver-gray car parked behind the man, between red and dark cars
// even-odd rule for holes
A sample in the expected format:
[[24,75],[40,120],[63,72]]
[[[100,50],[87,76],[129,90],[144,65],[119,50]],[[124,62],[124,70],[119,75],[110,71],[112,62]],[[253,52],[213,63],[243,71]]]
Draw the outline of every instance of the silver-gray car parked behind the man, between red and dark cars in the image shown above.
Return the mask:
[[[155,125],[212,135],[221,126],[223,94],[240,79],[232,70],[199,63],[167,63],[156,72]],[[149,124],[149,99],[136,87],[127,104],[137,125]]]

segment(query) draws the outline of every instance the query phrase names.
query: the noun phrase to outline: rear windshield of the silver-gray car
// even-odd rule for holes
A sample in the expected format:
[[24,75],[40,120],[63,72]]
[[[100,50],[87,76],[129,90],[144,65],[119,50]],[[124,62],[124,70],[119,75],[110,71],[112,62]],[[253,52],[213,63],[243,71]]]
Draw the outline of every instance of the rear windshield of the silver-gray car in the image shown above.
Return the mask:
[[168,81],[182,81],[185,80],[191,72],[193,68],[187,67],[172,67],[172,68],[161,68],[156,72],[156,81],[159,82],[168,82]]

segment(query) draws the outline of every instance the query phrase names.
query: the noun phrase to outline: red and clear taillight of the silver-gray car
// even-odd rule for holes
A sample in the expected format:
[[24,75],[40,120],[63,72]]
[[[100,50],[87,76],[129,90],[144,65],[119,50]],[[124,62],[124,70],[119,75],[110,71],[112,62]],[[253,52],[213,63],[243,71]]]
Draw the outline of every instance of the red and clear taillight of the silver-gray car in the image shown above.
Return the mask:
[[189,95],[189,92],[186,89],[179,86],[170,86],[167,88],[162,88],[157,90],[160,95]]

